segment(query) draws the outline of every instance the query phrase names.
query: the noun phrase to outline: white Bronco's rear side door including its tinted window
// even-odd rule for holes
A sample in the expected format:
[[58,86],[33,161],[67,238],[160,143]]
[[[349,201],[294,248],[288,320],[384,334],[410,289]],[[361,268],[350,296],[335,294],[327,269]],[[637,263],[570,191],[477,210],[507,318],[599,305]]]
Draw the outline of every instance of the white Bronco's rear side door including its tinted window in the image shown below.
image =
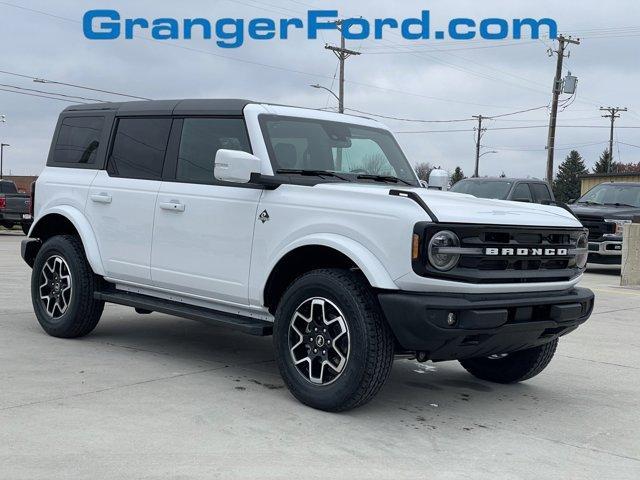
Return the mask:
[[117,120],[107,169],[89,190],[86,214],[106,276],[151,283],[151,240],[171,118]]

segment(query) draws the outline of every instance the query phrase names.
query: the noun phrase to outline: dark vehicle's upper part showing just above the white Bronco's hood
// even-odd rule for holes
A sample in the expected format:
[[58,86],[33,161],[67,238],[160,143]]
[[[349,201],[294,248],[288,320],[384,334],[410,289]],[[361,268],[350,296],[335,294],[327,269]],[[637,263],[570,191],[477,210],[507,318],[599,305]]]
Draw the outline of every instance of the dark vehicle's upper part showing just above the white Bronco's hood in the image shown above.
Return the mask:
[[533,178],[465,178],[453,185],[451,191],[515,202],[550,204],[555,201],[549,184]]

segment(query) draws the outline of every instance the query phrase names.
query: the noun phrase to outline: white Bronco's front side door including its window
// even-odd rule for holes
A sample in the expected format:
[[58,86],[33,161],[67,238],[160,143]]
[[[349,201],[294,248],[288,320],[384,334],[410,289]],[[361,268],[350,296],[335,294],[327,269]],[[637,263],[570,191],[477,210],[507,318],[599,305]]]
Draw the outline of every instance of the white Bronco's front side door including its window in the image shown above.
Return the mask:
[[250,152],[244,120],[176,120],[155,211],[154,285],[211,300],[248,304],[253,229],[261,189],[221,183],[218,149]]

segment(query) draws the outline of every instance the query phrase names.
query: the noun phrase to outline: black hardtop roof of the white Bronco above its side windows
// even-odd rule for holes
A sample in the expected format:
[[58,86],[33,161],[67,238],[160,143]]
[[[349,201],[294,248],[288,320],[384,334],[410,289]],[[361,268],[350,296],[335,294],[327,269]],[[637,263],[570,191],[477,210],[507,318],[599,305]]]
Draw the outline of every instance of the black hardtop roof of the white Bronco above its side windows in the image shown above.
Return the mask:
[[67,112],[115,111],[118,115],[242,115],[252,102],[238,98],[143,100],[136,102],[88,103],[67,107]]

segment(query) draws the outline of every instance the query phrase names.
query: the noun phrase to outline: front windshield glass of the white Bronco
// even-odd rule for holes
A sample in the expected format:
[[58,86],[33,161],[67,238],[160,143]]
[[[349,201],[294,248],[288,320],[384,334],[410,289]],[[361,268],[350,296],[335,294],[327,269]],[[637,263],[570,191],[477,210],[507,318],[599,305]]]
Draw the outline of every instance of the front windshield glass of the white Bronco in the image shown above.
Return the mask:
[[[419,186],[393,136],[386,130],[307,118],[260,115],[274,173]],[[398,180],[395,180],[398,179]]]

